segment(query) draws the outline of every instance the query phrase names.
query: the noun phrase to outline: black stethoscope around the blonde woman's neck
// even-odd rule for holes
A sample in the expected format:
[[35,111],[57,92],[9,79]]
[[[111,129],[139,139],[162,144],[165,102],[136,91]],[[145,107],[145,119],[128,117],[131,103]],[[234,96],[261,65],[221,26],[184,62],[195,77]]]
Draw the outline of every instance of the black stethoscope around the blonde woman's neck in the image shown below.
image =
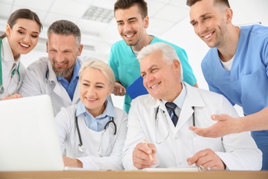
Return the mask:
[[[76,114],[76,113],[75,113]],[[104,132],[108,129],[109,127],[109,124],[110,123],[113,123],[113,125],[115,126],[115,129],[114,129],[114,132],[113,132],[113,135],[116,134],[116,124],[115,124],[115,121],[113,120],[113,117],[111,118],[111,120],[109,120],[106,125],[104,125],[104,131],[102,132],[102,137],[101,137],[101,140],[100,140],[100,146],[98,147],[98,153],[100,153],[100,147],[102,145],[102,138],[104,136]],[[82,153],[84,153],[86,151],[86,147],[83,145],[82,143],[82,138],[81,138],[81,134],[80,134],[80,129],[79,129],[79,125],[78,125],[78,119],[77,119],[77,116],[76,116],[76,129],[77,129],[77,133],[78,133],[78,137],[79,137],[79,142],[80,144],[78,145],[78,150]],[[101,156],[99,154],[99,156]]]

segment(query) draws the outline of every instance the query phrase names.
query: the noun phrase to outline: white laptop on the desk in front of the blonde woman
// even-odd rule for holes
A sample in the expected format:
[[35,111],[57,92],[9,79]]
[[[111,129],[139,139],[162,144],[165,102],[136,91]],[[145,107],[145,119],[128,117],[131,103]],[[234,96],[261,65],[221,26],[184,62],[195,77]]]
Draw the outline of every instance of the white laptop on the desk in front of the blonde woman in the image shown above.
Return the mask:
[[0,101],[0,171],[64,169],[50,97]]

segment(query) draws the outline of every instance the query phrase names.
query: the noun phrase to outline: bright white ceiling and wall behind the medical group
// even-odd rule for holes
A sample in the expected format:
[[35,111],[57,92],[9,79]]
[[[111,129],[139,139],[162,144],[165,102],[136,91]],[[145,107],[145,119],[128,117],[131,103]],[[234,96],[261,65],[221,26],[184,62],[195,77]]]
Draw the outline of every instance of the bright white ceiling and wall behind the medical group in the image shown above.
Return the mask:
[[[194,34],[190,25],[189,7],[186,0],[147,0],[149,27],[148,34],[170,41],[186,50],[189,63],[197,77],[200,88],[208,89],[208,85],[201,72],[201,60],[209,48]],[[9,15],[19,8],[30,8],[38,14],[44,28],[36,48],[29,54],[21,57],[22,63],[27,67],[40,56],[47,56],[46,39],[49,24],[59,19],[67,19],[77,23],[82,32],[82,44],[85,45],[81,56],[93,56],[102,61],[108,61],[111,44],[121,40],[117,25],[113,18],[113,4],[115,0],[0,0],[0,33],[5,30]],[[63,8],[63,4],[65,7]],[[111,10],[111,21],[93,23],[93,20],[82,20],[80,17],[86,7],[99,6]],[[261,23],[268,26],[267,0],[230,0],[234,12],[235,25]],[[68,10],[70,8],[70,10]],[[52,12],[54,10],[54,12]],[[86,10],[85,10],[86,11]],[[58,13],[58,14],[55,14]],[[95,30],[95,31],[94,31]],[[100,33],[98,33],[100,32]],[[115,106],[122,109],[123,96],[113,96]],[[241,107],[235,106],[238,114],[243,115]]]

